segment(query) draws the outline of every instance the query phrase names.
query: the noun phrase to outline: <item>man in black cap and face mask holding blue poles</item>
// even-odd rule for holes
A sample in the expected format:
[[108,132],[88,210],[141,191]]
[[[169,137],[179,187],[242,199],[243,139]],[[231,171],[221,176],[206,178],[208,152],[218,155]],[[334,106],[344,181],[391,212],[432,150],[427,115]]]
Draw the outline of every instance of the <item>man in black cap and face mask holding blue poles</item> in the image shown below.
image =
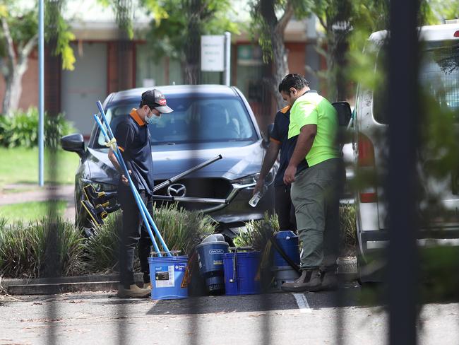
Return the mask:
[[[168,114],[173,110],[167,106],[165,96],[160,90],[148,90],[142,93],[138,109],[131,110],[119,122],[115,129],[115,138],[126,168],[129,170],[133,185],[153,216],[153,159],[151,156],[150,131],[148,124],[153,117]],[[109,160],[121,174],[118,184],[118,201],[121,205],[123,226],[119,246],[120,285],[117,296],[120,298],[143,298],[150,294],[150,269],[148,257],[151,250],[151,239],[143,224],[141,213],[133,197],[129,182],[122,174],[121,167],[109,149]],[[138,244],[141,271],[143,272],[143,288],[134,282],[134,252]]]

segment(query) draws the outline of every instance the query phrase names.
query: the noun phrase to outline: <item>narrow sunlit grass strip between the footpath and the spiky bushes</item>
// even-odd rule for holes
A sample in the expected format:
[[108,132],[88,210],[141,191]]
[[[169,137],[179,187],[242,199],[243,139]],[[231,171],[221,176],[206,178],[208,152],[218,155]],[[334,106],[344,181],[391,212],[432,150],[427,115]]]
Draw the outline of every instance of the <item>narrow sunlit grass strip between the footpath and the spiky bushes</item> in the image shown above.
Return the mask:
[[48,216],[51,203],[55,203],[57,216],[63,216],[67,206],[66,201],[30,201],[0,206],[0,218],[7,218],[8,223],[36,221]]

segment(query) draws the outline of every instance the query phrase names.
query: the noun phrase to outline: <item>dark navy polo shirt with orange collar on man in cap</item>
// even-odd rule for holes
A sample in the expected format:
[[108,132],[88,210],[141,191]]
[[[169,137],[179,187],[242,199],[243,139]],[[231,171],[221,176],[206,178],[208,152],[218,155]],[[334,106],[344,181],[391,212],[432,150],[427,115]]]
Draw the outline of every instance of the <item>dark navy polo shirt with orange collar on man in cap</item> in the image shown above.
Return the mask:
[[153,195],[153,159],[150,131],[136,109],[119,122],[115,138],[137,190]]

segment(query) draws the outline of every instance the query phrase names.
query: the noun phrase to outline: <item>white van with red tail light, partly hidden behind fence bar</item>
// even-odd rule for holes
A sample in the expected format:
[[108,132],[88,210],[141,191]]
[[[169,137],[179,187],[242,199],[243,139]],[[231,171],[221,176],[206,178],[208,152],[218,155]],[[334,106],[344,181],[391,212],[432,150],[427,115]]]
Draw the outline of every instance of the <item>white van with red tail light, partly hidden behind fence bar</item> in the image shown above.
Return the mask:
[[[386,30],[371,34],[366,49],[374,49],[378,56],[386,37]],[[451,127],[459,127],[459,23],[424,26],[420,28],[419,37],[423,52],[419,64],[422,88],[438,102],[438,109],[453,114],[453,117],[450,116]],[[377,64],[378,57],[375,71],[379,67]],[[357,264],[361,281],[381,279],[378,276],[378,268],[381,267],[378,255],[388,243],[383,183],[374,178],[381,178],[383,170],[388,167],[385,163],[388,155],[388,116],[381,111],[383,107],[378,103],[381,100],[376,93],[362,86],[357,88],[352,145],[354,175],[357,181],[362,176],[370,177],[364,179],[366,183],[355,191]],[[441,114],[436,113],[435,116]],[[422,219],[419,245],[459,245],[459,166],[443,174],[427,173],[426,170],[436,163],[441,164],[437,162],[441,156],[448,155],[444,150],[437,150],[436,156],[431,157],[427,151],[419,155],[418,166],[422,180],[422,190],[419,192],[423,196],[419,203]],[[455,154],[458,155],[458,152]],[[423,218],[427,214],[428,221]]]

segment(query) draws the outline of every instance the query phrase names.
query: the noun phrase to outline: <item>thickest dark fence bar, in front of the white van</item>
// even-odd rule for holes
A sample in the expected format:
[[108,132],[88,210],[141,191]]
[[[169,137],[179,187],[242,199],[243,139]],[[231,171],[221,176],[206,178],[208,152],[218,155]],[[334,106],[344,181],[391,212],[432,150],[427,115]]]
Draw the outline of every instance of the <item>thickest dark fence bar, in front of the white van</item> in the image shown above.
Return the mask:
[[388,307],[390,344],[417,343],[415,209],[417,124],[417,0],[391,1],[386,112],[388,172]]

